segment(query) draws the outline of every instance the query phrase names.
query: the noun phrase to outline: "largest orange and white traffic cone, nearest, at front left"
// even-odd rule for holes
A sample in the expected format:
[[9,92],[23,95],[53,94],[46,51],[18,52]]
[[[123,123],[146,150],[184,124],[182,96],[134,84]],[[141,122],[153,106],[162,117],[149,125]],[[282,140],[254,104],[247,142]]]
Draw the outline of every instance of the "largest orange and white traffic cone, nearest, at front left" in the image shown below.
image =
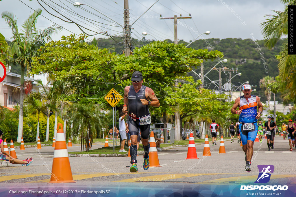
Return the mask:
[[73,180],[67,144],[63,129],[57,130],[57,141],[54,147],[52,175],[49,183],[75,183]]

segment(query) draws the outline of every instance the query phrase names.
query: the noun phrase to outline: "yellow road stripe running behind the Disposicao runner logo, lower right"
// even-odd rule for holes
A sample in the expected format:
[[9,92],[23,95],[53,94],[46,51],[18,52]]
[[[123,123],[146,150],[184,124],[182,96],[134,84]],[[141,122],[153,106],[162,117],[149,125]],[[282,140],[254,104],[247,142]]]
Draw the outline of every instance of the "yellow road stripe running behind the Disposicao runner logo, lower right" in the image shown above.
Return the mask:
[[[270,179],[277,179],[277,178],[290,178],[295,177],[296,175],[271,175]],[[213,179],[213,180],[207,180],[203,182],[199,182],[196,184],[207,184],[207,185],[217,185],[217,184],[242,184],[242,183],[249,183],[249,182],[255,182],[258,178],[258,175],[252,175],[252,176],[240,176],[240,177],[229,177],[229,178],[219,178],[219,179]]]

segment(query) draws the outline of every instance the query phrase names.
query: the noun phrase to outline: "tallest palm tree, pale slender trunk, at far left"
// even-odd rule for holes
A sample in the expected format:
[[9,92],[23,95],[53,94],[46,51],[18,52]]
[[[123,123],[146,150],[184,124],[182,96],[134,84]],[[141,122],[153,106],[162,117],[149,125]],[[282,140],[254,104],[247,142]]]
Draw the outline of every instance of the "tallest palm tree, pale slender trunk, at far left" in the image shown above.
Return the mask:
[[9,53],[13,58],[9,59],[11,64],[19,64],[21,66],[20,78],[20,115],[17,133],[17,142],[22,139],[23,127],[23,107],[24,107],[24,76],[25,68],[30,68],[31,58],[36,56],[37,50],[51,40],[51,35],[62,27],[52,25],[44,30],[36,29],[37,17],[42,13],[41,9],[36,9],[33,14],[22,24],[22,30],[19,31],[17,26],[17,18],[12,12],[2,12],[1,17],[8,23],[12,30],[12,38],[10,43]]

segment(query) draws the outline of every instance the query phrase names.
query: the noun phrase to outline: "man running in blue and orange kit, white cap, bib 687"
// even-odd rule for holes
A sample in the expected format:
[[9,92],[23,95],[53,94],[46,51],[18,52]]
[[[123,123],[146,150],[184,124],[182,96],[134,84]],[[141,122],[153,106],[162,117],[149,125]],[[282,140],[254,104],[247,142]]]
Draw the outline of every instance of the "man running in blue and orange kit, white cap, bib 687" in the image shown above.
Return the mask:
[[[263,106],[258,96],[251,95],[250,84],[244,84],[242,88],[244,95],[237,97],[231,108],[231,113],[239,115],[239,133],[246,161],[245,170],[250,172],[253,145],[258,131],[257,119],[261,117]],[[237,110],[237,107],[239,107],[239,110]]]

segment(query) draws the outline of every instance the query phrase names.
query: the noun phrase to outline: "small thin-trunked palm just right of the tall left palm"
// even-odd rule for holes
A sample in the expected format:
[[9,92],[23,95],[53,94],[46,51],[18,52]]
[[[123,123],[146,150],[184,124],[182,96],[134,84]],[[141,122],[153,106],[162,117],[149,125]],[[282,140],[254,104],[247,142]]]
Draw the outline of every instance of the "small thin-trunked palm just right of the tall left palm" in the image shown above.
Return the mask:
[[40,113],[41,112],[45,113],[47,111],[49,102],[48,100],[45,99],[44,94],[41,92],[30,94],[30,96],[28,96],[25,102],[32,105],[32,107],[35,109],[34,114],[38,113],[37,133],[36,133],[36,141],[38,141]]

